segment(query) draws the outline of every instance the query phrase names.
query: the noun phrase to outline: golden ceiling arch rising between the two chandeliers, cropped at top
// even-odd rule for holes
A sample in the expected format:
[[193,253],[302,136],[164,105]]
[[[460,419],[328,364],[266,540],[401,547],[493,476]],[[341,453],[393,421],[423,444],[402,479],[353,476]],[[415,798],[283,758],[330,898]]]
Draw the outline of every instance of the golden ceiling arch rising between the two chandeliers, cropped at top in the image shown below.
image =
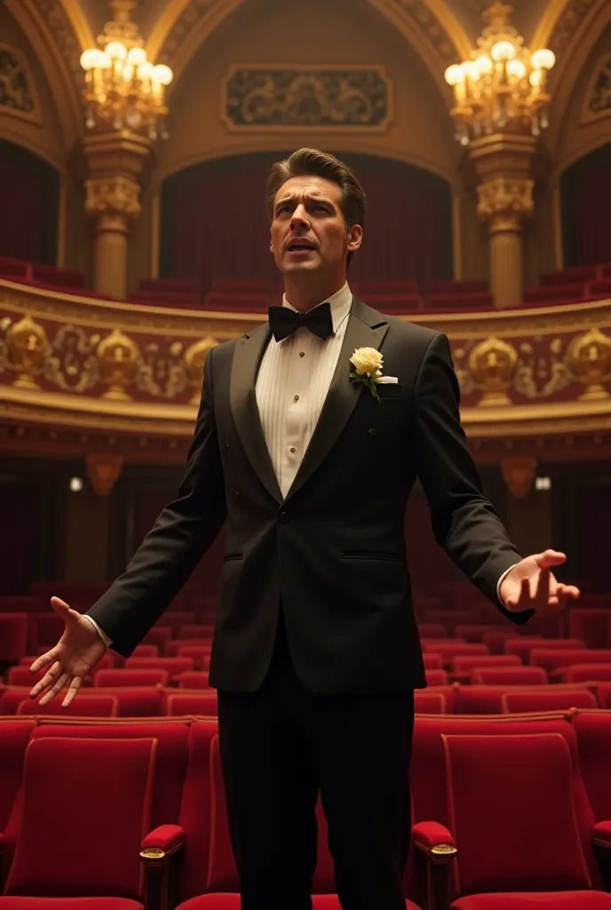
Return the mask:
[[[172,66],[178,81],[197,49],[247,0],[169,0],[147,42],[149,56]],[[396,27],[446,94],[446,66],[468,56],[471,43],[446,0],[367,0]]]

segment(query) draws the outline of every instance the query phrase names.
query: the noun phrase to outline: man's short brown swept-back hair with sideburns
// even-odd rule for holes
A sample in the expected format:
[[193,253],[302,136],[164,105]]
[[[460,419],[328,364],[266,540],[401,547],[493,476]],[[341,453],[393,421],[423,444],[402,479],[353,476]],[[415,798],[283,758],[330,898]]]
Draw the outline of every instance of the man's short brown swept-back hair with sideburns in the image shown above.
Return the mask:
[[[266,204],[269,217],[274,217],[274,200],[278,192],[291,177],[324,177],[336,183],[342,190],[342,211],[346,227],[363,225],[365,220],[366,196],[356,174],[343,161],[329,152],[317,148],[298,148],[284,161],[276,161],[267,178]],[[348,256],[350,258],[350,255]]]

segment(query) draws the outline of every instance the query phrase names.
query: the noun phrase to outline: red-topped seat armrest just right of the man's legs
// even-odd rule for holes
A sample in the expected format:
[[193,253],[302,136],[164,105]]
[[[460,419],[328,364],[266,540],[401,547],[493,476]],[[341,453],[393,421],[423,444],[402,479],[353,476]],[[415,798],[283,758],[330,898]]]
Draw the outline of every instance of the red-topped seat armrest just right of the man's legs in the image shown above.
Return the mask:
[[445,824],[418,822],[412,827],[415,850],[417,900],[425,910],[447,910],[456,856],[454,837]]

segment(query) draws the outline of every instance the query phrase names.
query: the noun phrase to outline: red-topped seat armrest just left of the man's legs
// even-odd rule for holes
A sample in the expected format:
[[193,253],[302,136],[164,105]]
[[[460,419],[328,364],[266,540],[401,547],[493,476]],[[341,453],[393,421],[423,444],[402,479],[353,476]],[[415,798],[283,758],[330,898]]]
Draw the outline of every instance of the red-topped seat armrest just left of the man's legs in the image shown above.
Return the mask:
[[185,832],[178,824],[160,824],[146,834],[140,849],[145,910],[174,910],[178,896],[178,860],[184,844]]

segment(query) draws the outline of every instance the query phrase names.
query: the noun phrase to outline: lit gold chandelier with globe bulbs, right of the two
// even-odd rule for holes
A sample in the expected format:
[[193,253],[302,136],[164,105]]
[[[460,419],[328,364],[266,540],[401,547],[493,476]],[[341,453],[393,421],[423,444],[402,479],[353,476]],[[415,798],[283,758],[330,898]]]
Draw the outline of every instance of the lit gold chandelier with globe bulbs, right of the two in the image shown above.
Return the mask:
[[454,89],[456,138],[499,132],[539,136],[547,126],[547,74],[556,63],[546,47],[531,52],[510,24],[513,7],[496,0],[483,14],[486,28],[471,58],[446,69]]

